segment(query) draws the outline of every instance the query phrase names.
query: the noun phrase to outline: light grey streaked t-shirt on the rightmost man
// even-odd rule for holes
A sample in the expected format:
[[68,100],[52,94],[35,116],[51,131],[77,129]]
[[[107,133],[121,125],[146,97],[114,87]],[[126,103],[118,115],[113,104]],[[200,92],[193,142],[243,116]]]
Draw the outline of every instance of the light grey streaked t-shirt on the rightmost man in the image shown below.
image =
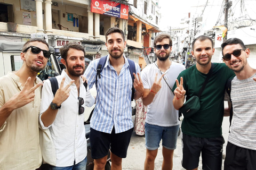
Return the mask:
[[233,123],[228,141],[246,149],[256,150],[256,82],[237,77],[231,82],[231,100],[233,104]]

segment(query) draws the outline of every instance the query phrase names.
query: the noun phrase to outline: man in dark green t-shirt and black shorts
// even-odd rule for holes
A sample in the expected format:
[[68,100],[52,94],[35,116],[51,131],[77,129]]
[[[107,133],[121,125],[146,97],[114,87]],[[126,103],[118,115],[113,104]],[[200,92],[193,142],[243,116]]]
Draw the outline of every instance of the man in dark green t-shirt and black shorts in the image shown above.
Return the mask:
[[[192,43],[196,65],[182,71],[173,86],[175,97],[173,106],[180,109],[186,100],[197,96],[211,69],[209,81],[203,90],[200,109],[191,117],[184,117],[181,125],[183,142],[182,166],[197,169],[202,152],[204,170],[219,170],[222,165],[222,120],[226,81],[234,77],[234,72],[224,63],[211,63],[214,54],[213,41],[207,36],[199,36]],[[180,83],[179,83],[180,82]]]

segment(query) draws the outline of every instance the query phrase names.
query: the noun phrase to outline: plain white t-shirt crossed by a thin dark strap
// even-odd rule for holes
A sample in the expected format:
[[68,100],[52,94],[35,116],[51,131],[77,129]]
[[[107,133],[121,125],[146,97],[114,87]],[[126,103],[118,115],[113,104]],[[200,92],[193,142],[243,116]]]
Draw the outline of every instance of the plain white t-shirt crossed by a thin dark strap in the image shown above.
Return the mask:
[[[168,71],[169,70],[169,71]],[[185,66],[179,63],[172,62],[167,73],[164,75],[166,82],[170,88],[173,87],[175,80],[181,71],[185,70]],[[155,75],[157,80],[161,77],[161,71],[156,66],[156,63],[150,64],[145,67],[141,72],[141,79],[145,89],[151,89],[155,81]],[[151,104],[148,105],[148,112],[146,116],[146,122],[148,124],[158,126],[175,126],[180,122],[178,120],[178,111],[173,107],[173,92],[167,86],[164,79],[162,79],[162,87],[155,95]]]

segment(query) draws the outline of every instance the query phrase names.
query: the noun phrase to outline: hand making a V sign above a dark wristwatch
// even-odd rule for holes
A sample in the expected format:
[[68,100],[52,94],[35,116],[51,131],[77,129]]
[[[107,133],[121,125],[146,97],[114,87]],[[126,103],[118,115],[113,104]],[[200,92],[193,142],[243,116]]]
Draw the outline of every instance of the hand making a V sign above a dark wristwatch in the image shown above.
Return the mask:
[[53,98],[52,102],[57,104],[57,106],[60,106],[63,101],[65,101],[69,97],[69,92],[70,92],[70,86],[72,83],[75,82],[75,80],[71,80],[66,87],[64,87],[64,82],[65,82],[66,77],[63,77],[60,83],[59,89],[56,91],[55,97]]

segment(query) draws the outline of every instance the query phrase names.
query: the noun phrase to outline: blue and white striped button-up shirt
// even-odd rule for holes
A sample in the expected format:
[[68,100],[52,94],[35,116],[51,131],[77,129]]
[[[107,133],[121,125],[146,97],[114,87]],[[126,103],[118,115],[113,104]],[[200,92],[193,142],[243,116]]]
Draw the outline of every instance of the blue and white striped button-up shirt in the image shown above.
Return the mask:
[[[97,78],[98,88],[96,106],[91,118],[91,128],[100,132],[111,133],[113,126],[116,133],[125,132],[133,128],[132,123],[132,78],[129,63],[124,56],[125,64],[117,75],[116,70],[110,65],[109,55]],[[87,67],[84,76],[91,89],[96,81],[98,60],[92,61]],[[140,67],[135,63],[136,72],[140,73]]]

